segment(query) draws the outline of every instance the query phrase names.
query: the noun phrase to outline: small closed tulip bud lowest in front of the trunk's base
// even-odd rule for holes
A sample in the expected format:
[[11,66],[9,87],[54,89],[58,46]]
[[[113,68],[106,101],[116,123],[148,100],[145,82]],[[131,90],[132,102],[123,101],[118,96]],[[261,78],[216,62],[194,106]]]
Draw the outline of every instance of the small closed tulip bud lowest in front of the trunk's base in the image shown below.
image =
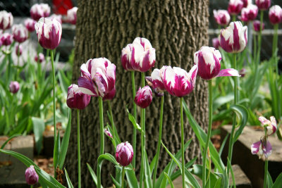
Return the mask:
[[128,166],[133,160],[133,146],[128,142],[122,142],[116,146],[116,161],[122,166]]

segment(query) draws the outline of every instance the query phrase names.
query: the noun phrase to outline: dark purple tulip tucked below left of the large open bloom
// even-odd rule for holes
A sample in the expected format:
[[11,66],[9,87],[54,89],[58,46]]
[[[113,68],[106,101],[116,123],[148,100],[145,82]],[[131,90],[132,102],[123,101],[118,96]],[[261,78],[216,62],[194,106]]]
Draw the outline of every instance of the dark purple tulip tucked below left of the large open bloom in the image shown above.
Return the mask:
[[82,110],[90,103],[90,99],[90,95],[80,92],[77,84],[71,84],[68,87],[68,98],[66,99],[68,108]]

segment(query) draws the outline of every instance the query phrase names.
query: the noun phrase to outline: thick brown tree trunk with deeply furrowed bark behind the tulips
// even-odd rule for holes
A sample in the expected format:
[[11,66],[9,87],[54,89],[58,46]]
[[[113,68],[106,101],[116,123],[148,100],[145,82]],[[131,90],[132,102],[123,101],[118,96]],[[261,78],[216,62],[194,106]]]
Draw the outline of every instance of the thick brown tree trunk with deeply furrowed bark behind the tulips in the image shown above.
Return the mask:
[[[128,121],[125,106],[133,111],[133,100],[130,84],[130,73],[121,66],[121,49],[132,43],[135,37],[149,39],[156,49],[155,68],[162,65],[179,66],[190,70],[193,55],[201,46],[208,44],[208,0],[131,0],[131,1],[78,1],[78,22],[76,25],[75,62],[73,65],[73,83],[80,76],[80,65],[90,58],[106,57],[116,64],[116,97],[111,101],[114,121],[121,141],[132,144],[133,125]],[[150,75],[151,72],[146,73]],[[135,73],[136,87],[140,87],[140,73]],[[205,127],[208,124],[207,82],[197,77],[194,91],[185,97],[190,111],[197,122]],[[149,160],[156,153],[159,134],[160,98],[154,96],[152,104],[146,108],[146,149]],[[104,122],[109,123],[104,103]],[[140,122],[140,109],[137,108]],[[185,116],[185,115],[184,115]],[[76,113],[73,111],[71,140],[66,158],[66,170],[77,187],[77,146],[76,146]],[[97,98],[80,113],[81,125],[81,169],[82,187],[95,187],[86,163],[94,171],[99,156],[99,108]],[[185,118],[185,142],[192,138],[192,143],[185,151],[186,162],[198,156],[200,149],[197,139]],[[164,130],[162,140],[172,153],[180,149],[180,104],[176,96],[165,94]],[[115,149],[105,137],[105,152],[114,155]],[[137,165],[140,170],[140,132],[137,134]],[[159,169],[162,170],[171,158],[161,149]],[[110,175],[114,176],[114,165],[103,163],[102,184],[112,184]]]

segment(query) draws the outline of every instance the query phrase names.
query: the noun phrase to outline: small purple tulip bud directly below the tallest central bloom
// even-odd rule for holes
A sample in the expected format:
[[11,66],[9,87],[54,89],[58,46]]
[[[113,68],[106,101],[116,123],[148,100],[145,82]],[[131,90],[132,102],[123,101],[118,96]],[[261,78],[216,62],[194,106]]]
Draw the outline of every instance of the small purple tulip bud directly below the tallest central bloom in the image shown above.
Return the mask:
[[135,95],[135,104],[141,108],[147,108],[152,102],[152,90],[149,86],[139,87]]

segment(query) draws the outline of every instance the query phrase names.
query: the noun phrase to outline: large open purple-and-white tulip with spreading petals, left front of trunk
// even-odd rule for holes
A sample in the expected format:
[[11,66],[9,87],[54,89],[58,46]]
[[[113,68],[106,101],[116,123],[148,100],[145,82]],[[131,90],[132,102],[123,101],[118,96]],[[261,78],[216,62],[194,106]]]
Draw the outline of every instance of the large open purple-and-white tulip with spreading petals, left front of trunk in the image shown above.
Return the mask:
[[94,58],[80,66],[78,78],[80,91],[90,96],[113,99],[116,94],[116,65],[107,58]]

